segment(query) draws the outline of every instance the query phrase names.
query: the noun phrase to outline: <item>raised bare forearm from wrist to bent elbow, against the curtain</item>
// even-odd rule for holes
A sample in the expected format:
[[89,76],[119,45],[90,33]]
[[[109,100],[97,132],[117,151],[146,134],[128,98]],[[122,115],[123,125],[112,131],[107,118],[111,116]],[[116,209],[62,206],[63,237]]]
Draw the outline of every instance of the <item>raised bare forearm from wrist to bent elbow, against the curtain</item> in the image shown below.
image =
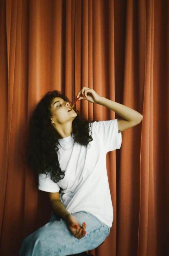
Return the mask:
[[117,103],[115,101],[106,99],[104,97],[100,97],[97,104],[102,105],[104,107],[107,107],[107,108],[115,111],[115,113],[117,113],[119,116],[121,116],[126,121],[138,122],[138,121],[142,120],[142,118],[143,118],[143,116],[136,110],[134,110],[130,107],[127,107],[125,105],[122,105],[120,103]]

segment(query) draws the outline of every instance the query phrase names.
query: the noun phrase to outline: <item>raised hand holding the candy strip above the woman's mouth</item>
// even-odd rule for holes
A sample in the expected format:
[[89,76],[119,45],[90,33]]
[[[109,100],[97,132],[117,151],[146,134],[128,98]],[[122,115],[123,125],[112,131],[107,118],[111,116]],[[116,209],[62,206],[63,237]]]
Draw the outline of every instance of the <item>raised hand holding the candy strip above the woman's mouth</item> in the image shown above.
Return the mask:
[[[80,96],[82,94],[82,96]],[[88,100],[91,103],[98,103],[101,96],[99,96],[93,89],[90,89],[88,87],[83,87],[80,92],[78,92],[78,95],[76,96],[78,100]]]

